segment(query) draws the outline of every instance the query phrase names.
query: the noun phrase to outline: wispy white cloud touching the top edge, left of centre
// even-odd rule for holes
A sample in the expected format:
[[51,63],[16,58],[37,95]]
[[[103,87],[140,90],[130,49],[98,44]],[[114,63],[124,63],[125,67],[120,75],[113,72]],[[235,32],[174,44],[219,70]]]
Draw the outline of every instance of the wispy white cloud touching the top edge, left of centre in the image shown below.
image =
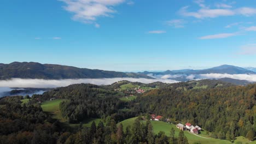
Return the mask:
[[112,17],[117,11],[114,6],[123,3],[125,0],[59,0],[67,5],[65,10],[74,13],[75,21],[94,23],[97,17]]

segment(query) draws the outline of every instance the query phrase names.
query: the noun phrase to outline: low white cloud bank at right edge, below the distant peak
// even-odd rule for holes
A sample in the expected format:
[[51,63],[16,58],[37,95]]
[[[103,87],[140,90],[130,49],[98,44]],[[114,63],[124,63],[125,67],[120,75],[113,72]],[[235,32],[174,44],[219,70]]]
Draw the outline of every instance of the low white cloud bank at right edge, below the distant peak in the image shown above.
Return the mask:
[[251,82],[256,82],[256,75],[249,74],[200,74],[201,79],[222,79],[222,78],[231,78],[237,80],[247,80]]

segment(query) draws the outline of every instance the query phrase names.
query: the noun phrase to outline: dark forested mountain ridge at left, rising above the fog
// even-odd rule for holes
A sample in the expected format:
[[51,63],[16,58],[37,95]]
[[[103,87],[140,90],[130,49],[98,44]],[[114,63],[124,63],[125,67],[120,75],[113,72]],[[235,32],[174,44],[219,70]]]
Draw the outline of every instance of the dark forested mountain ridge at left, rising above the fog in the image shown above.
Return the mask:
[[0,64],[0,80],[10,78],[22,79],[96,79],[112,77],[134,77],[153,79],[147,75],[136,73],[122,73],[98,69],[69,67],[57,64],[40,64],[34,62],[13,62]]

